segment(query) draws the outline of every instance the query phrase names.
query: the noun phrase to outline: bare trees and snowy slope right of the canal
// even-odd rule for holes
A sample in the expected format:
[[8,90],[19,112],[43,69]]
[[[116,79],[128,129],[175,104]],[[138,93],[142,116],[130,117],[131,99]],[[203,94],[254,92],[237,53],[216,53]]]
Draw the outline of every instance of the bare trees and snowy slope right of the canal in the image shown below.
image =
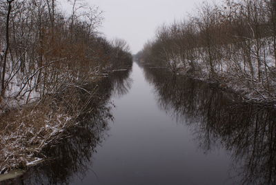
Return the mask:
[[197,15],[158,28],[137,57],[275,99],[276,1],[204,3]]

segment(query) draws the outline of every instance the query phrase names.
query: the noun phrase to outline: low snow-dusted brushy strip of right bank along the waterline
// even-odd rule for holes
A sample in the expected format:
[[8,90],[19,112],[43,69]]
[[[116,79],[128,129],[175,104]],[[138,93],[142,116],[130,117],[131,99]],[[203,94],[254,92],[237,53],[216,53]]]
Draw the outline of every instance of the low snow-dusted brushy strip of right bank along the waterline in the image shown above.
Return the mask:
[[139,61],[141,65],[150,68],[164,68],[171,73],[171,75],[181,75],[197,79],[205,83],[210,84],[214,88],[219,88],[229,93],[235,93],[241,98],[241,101],[252,104],[262,104],[270,107],[276,105],[276,87],[270,86],[270,92],[263,88],[262,82],[250,80],[250,79],[239,79],[239,75],[234,72],[218,72],[211,75],[208,70],[204,70],[204,66],[196,66],[193,70],[191,68],[184,68],[178,66],[175,72],[170,70],[167,66],[159,65],[156,63]]

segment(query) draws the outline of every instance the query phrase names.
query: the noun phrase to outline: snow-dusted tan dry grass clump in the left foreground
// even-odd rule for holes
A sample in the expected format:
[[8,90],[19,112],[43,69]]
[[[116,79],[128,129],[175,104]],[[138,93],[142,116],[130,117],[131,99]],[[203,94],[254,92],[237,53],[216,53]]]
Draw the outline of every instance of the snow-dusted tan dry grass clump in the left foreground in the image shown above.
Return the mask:
[[92,95],[83,100],[79,89],[66,91],[0,115],[0,174],[43,159],[41,150],[77,124]]

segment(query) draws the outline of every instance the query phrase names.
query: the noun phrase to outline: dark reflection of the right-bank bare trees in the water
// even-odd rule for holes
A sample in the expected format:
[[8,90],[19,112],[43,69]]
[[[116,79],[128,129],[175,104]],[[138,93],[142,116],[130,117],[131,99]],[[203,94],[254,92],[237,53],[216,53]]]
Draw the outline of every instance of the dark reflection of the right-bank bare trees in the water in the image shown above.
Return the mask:
[[217,144],[230,151],[239,184],[276,183],[275,109],[239,103],[233,94],[166,70],[145,67],[144,73],[160,108],[188,124],[205,152]]

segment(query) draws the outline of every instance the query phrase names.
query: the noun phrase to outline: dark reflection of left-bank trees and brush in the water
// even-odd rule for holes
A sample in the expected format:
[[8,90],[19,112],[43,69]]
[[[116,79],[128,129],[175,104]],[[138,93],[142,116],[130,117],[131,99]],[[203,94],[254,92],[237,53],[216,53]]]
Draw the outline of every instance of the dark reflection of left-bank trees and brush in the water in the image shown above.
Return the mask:
[[[110,77],[103,78],[97,84],[95,99],[88,106],[92,108],[92,113],[82,115],[77,127],[66,131],[66,136],[59,143],[44,150],[44,155],[50,159],[30,168],[23,177],[12,179],[5,184],[68,184],[76,176],[84,177],[89,166],[92,166],[90,160],[93,153],[97,153],[96,146],[101,144],[106,136],[108,121],[112,119],[110,97],[128,93],[131,87],[131,69],[132,66],[129,66],[126,71],[112,72]],[[94,88],[95,84],[86,88],[89,87]],[[97,177],[97,174],[95,176]]]

